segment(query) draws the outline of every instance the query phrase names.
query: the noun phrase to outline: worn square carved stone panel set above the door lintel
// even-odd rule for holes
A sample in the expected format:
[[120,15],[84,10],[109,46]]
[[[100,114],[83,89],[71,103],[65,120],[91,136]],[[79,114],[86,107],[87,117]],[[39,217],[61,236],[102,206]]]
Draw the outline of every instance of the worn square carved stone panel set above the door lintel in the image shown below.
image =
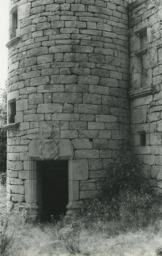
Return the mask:
[[39,123],[39,139],[59,139],[60,122],[45,121]]

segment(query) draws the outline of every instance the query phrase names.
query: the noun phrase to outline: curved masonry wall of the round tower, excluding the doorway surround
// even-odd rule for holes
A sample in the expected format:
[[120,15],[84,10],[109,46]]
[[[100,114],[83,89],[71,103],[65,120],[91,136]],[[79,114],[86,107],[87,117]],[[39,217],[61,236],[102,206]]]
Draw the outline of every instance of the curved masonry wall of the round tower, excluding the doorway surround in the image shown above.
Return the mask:
[[18,41],[9,47],[8,102],[16,101],[19,127],[8,130],[8,199],[26,202],[28,145],[39,139],[70,139],[74,160],[89,170],[76,200],[98,197],[129,139],[127,1],[10,3],[11,11],[18,5]]

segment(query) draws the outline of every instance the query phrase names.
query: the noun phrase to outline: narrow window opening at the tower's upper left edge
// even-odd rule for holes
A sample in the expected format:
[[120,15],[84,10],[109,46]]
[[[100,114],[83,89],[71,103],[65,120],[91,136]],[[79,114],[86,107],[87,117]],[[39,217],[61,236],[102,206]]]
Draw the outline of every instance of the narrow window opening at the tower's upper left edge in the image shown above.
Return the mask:
[[14,8],[10,12],[10,40],[16,37],[18,29],[18,8]]

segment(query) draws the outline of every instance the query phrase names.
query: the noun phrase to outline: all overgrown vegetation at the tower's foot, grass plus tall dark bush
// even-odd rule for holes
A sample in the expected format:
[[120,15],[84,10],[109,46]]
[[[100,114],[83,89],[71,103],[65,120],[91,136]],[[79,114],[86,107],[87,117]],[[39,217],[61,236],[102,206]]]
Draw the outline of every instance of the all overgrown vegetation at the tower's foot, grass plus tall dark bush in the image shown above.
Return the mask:
[[86,201],[71,218],[50,223],[30,221],[16,204],[7,215],[1,186],[0,256],[162,255],[162,196],[140,180],[140,167],[127,146],[108,172],[101,199]]

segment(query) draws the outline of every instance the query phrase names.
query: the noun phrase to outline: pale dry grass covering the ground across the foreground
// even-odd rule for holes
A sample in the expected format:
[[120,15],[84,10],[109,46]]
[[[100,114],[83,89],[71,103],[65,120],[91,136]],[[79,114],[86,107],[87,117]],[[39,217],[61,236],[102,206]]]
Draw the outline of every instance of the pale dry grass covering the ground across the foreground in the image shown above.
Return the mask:
[[57,223],[27,223],[18,211],[6,214],[4,187],[0,187],[0,194],[1,230],[8,223],[7,234],[9,237],[14,234],[7,256],[161,255],[162,221],[158,219],[142,229],[129,227],[127,230],[119,228],[119,220],[96,221],[91,223],[91,230],[85,228],[82,219],[69,223],[63,218]]

